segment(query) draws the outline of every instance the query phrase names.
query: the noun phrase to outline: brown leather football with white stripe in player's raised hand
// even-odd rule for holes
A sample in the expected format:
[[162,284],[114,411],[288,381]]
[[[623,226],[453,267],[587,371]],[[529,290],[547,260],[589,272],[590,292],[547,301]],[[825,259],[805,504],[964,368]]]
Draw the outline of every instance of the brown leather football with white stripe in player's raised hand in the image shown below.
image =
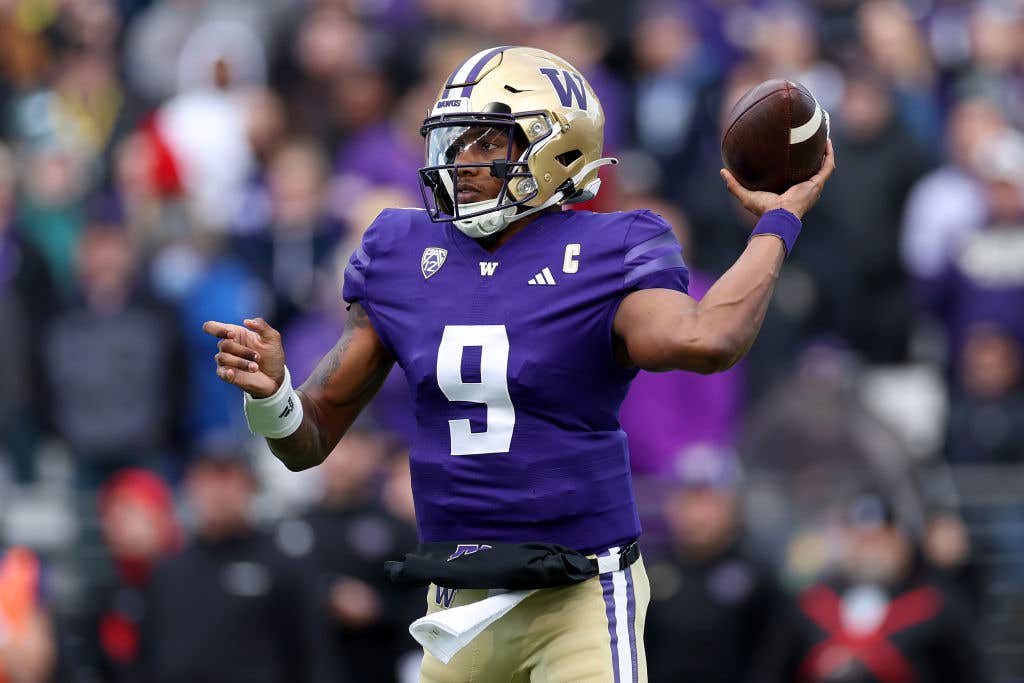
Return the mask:
[[733,105],[722,160],[744,187],[781,194],[818,172],[827,139],[828,113],[807,88],[773,79]]

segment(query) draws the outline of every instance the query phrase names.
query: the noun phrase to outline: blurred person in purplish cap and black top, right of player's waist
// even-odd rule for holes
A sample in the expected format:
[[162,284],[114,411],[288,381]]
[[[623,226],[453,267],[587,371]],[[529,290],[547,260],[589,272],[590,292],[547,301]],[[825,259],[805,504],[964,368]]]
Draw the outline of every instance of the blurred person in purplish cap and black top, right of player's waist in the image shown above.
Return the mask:
[[678,459],[665,505],[669,547],[650,568],[652,681],[741,683],[777,603],[772,571],[743,543],[739,466],[710,446]]

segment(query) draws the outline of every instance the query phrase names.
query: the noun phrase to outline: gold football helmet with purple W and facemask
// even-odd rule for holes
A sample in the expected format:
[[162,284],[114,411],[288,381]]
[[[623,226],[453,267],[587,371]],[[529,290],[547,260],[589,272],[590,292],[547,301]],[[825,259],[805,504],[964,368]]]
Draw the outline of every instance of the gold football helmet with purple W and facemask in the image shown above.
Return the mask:
[[[467,139],[499,131],[504,159],[458,163]],[[420,132],[426,166],[423,201],[435,222],[453,221],[466,234],[495,234],[556,204],[585,202],[601,186],[604,112],[587,80],[559,56],[531,47],[477,52],[449,77]],[[514,143],[524,151],[513,159]],[[503,179],[498,197],[459,204],[459,171],[487,167]]]

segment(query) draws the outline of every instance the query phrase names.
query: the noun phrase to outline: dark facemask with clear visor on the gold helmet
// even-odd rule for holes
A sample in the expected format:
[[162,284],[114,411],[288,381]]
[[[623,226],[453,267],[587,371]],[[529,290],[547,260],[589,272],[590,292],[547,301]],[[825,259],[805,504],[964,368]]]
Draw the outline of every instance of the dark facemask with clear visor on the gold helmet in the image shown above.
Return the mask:
[[[420,189],[424,205],[435,222],[452,221],[463,232],[479,239],[505,229],[520,216],[520,207],[537,197],[538,185],[527,160],[541,139],[528,142],[517,119],[536,118],[543,113],[466,114],[431,117],[421,133],[426,138],[427,165],[420,169]],[[504,155],[494,154],[494,144],[503,144]],[[522,152],[515,156],[518,143]],[[489,161],[459,162],[459,156],[476,146]],[[475,175],[464,169],[484,168],[487,175],[502,179],[497,197],[459,203],[461,183],[471,183]]]

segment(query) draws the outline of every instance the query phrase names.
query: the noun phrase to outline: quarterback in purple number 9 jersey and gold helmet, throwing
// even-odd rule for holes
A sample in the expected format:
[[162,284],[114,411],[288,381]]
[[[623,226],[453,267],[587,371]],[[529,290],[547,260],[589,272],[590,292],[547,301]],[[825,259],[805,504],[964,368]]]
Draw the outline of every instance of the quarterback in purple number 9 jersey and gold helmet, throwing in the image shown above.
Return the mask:
[[204,326],[220,338],[218,377],[292,470],[323,462],[401,369],[423,550],[396,575],[434,584],[431,614],[537,589],[446,661],[425,654],[424,681],[646,680],[649,587],[620,404],[639,369],[714,373],[745,353],[835,168],[829,143],[822,170],[783,195],[723,171],[760,220],[698,302],[660,216],[563,210],[614,163],[603,126],[560,57],[478,52],[423,123],[425,208],[367,229],[345,270],[345,333],[301,387],[264,321]]

